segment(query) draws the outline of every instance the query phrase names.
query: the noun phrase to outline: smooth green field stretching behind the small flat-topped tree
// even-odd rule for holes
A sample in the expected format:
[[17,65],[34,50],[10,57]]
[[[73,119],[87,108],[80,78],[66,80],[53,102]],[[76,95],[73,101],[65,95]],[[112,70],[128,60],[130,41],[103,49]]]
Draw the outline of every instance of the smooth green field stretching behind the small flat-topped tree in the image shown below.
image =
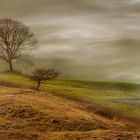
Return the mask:
[[[27,77],[7,72],[0,73],[0,81],[35,86]],[[89,103],[98,102],[127,116],[140,118],[140,85],[137,84],[57,79],[47,81],[40,89]]]

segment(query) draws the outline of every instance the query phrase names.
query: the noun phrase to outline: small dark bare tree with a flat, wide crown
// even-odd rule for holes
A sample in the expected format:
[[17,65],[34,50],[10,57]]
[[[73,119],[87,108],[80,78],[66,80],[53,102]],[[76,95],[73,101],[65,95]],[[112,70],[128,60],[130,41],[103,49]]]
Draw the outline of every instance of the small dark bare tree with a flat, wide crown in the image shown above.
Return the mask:
[[55,69],[36,69],[30,76],[30,79],[37,82],[36,90],[38,90],[41,83],[55,79],[58,75],[59,72]]

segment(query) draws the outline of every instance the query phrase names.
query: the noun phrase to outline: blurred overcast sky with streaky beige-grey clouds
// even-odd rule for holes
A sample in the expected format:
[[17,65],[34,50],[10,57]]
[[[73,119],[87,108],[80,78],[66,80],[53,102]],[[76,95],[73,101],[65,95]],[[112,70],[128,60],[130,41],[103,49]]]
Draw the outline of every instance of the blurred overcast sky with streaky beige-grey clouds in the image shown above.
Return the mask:
[[140,83],[140,0],[0,0],[0,16],[30,26],[35,55],[67,77]]

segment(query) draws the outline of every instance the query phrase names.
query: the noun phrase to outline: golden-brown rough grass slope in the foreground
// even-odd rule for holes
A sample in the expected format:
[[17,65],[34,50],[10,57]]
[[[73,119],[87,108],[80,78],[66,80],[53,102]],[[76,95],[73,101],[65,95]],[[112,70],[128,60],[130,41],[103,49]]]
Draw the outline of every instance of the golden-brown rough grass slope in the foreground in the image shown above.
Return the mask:
[[88,111],[79,101],[0,86],[2,140],[140,139],[126,125]]

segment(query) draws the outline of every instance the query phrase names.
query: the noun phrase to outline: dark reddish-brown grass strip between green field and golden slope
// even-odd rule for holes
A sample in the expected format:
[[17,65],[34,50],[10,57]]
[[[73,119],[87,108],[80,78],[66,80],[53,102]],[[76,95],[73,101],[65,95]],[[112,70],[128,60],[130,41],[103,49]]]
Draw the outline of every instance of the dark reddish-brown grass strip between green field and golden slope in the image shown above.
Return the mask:
[[63,97],[69,101],[76,101],[77,103],[82,105],[82,109],[87,110],[88,112],[92,112],[109,120],[125,124],[127,130],[140,130],[140,118],[129,117],[118,110],[113,110],[95,101],[93,103],[89,103],[86,101],[81,101],[77,98],[67,97],[62,94],[56,94],[53,91],[51,93],[55,96]]

